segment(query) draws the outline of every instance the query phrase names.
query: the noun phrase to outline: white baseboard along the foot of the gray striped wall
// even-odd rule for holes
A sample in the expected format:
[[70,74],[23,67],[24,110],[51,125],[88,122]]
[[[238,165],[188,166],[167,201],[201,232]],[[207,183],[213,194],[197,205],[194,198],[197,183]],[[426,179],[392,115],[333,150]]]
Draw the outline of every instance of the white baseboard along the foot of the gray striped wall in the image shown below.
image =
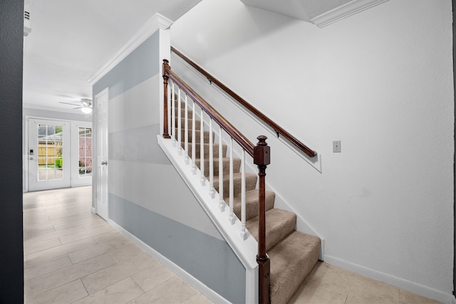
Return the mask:
[[219,295],[216,293],[214,290],[210,289],[206,285],[204,285],[201,281],[197,280],[194,276],[192,276],[190,273],[187,273],[184,269],[180,268],[180,266],[177,266],[174,262],[170,261],[169,259],[165,258],[165,256],[162,256],[161,253],[158,251],[155,251],[154,248],[151,248],[149,245],[138,239],[136,236],[133,234],[130,234],[130,232],[126,231],[123,229],[122,226],[119,226],[117,223],[115,223],[113,220],[108,219],[108,224],[110,226],[113,226],[115,229],[120,231],[121,234],[123,234],[127,239],[130,241],[133,241],[138,247],[140,247],[143,251],[147,252],[155,258],[157,261],[162,263],[163,266],[167,267],[175,273],[177,276],[182,278],[185,282],[187,282],[189,285],[191,285],[193,288],[199,291],[199,293],[202,293],[206,298],[211,300],[214,303],[229,303],[229,301],[225,298],[222,297],[222,295]]

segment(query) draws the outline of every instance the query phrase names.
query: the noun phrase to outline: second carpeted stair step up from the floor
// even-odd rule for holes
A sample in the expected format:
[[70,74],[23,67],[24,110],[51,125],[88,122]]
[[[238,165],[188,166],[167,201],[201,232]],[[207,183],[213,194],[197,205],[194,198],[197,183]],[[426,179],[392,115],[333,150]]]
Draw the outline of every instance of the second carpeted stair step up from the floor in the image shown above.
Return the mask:
[[[246,228],[258,241],[259,216],[246,221]],[[269,209],[266,211],[266,251],[281,239],[291,234],[296,226],[296,214],[281,210]]]

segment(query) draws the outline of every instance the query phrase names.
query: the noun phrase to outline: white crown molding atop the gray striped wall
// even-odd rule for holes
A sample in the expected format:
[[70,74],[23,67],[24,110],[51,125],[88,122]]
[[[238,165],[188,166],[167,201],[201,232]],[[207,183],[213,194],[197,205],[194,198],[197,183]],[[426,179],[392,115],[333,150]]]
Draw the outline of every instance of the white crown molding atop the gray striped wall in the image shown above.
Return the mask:
[[125,45],[120,48],[120,50],[115,53],[113,58],[110,59],[105,65],[103,65],[100,70],[98,70],[95,74],[92,75],[87,81],[90,85],[94,85],[98,80],[103,78],[110,70],[112,70],[115,65],[118,65],[120,61],[123,61],[125,57],[130,55],[138,46],[141,45],[147,38],[152,36],[153,33],[158,31],[159,29],[166,30],[170,28],[173,21],[167,19],[165,16],[161,14],[154,14],[154,16],[150,17],[149,20],[140,28],[140,30],[135,33],[135,35],[127,42]]

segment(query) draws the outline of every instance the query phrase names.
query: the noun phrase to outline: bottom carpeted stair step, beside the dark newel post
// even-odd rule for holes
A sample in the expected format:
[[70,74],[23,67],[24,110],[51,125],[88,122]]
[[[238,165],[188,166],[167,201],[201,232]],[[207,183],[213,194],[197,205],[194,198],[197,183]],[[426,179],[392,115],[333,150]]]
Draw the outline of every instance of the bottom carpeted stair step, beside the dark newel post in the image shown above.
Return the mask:
[[318,261],[320,239],[299,231],[268,251],[271,259],[271,303],[287,303]]

